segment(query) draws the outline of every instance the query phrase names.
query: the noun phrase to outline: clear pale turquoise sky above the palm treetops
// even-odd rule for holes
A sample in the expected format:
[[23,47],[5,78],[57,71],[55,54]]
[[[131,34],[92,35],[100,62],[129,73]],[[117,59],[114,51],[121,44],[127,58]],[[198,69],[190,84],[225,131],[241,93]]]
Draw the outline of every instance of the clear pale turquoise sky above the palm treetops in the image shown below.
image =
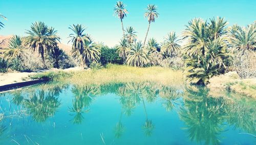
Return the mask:
[[[0,13],[8,18],[1,20],[5,28],[0,35],[25,35],[34,21],[44,21],[55,27],[61,42],[67,44],[71,30],[70,24],[83,24],[96,42],[109,46],[117,44],[122,36],[120,20],[114,16],[115,0],[0,0]],[[144,18],[148,4],[158,6],[159,18],[151,25],[148,38],[162,41],[168,32],[177,34],[185,24],[195,17],[208,19],[221,16],[229,24],[245,26],[256,20],[256,0],[124,0],[129,11],[124,18],[124,27],[133,26],[138,32],[138,39],[143,40],[147,29]]]

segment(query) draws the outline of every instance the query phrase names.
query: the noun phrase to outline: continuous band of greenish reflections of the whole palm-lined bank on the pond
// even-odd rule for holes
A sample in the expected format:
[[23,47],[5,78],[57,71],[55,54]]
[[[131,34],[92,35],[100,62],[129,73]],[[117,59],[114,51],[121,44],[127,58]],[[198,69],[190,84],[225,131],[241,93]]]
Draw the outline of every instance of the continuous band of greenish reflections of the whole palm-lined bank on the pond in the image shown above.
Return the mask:
[[[10,95],[13,104],[24,107],[25,115],[31,115],[35,122],[45,122],[53,117],[60,107],[59,96],[65,89],[68,90],[69,85],[44,84],[30,90],[13,91]],[[125,122],[126,118],[134,115],[137,109],[140,113],[143,111],[145,115],[145,117],[140,115],[143,121],[138,121],[144,136],[148,136],[147,138],[154,136],[154,130],[157,132],[160,127],[155,114],[147,108],[150,105],[157,105],[154,102],[158,101],[161,103],[160,107],[164,107],[166,112],[178,113],[180,121],[185,124],[184,131],[193,142],[220,144],[224,138],[222,133],[227,131],[227,126],[245,133],[255,134],[256,132],[255,101],[238,99],[232,93],[215,98],[210,96],[208,90],[203,87],[187,86],[185,89],[180,89],[151,82],[72,85],[71,90],[68,91],[72,93],[72,98],[68,104],[69,108],[65,109],[73,115],[73,124],[83,122],[83,113],[90,110],[97,96],[112,94],[118,97],[121,110],[117,112],[120,112],[120,117],[111,127],[115,138],[123,138],[124,132],[129,130],[129,125]],[[3,123],[4,115],[1,119],[1,114],[9,113],[6,110],[10,109],[0,109],[0,135],[7,129],[6,124]]]

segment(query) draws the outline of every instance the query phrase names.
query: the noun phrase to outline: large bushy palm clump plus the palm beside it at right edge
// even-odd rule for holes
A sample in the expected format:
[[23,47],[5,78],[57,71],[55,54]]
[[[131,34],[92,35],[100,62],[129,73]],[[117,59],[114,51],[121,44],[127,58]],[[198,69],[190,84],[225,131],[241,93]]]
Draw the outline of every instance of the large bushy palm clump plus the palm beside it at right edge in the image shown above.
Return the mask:
[[221,17],[209,22],[200,18],[188,22],[183,34],[188,40],[183,56],[185,74],[190,82],[207,84],[209,78],[228,70],[232,55],[255,52],[255,22],[245,28],[226,25],[227,21]]

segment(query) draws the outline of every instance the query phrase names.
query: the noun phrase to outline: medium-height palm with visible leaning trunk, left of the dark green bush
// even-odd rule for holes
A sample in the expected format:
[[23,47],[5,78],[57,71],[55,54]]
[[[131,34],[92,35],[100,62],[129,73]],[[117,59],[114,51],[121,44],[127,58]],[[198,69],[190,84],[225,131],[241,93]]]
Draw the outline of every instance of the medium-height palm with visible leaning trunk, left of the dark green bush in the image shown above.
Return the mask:
[[89,40],[90,38],[86,34],[84,34],[85,28],[81,24],[70,25],[69,29],[73,31],[73,33],[69,35],[69,38],[71,38],[69,42],[73,43],[71,51],[76,52],[75,58],[79,58],[80,63],[82,64],[82,67],[83,67],[84,62],[83,62],[82,56],[83,56],[83,50],[84,50],[84,43],[86,40]]

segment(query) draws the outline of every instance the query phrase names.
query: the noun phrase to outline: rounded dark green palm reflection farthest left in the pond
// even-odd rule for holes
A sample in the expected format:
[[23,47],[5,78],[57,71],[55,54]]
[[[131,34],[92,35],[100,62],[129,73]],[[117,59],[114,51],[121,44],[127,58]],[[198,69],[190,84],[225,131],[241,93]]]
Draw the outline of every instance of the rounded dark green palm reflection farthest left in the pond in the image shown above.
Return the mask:
[[32,95],[32,98],[25,100],[25,107],[29,109],[36,122],[44,122],[47,118],[54,115],[57,108],[60,106],[58,98],[50,92],[39,91]]

